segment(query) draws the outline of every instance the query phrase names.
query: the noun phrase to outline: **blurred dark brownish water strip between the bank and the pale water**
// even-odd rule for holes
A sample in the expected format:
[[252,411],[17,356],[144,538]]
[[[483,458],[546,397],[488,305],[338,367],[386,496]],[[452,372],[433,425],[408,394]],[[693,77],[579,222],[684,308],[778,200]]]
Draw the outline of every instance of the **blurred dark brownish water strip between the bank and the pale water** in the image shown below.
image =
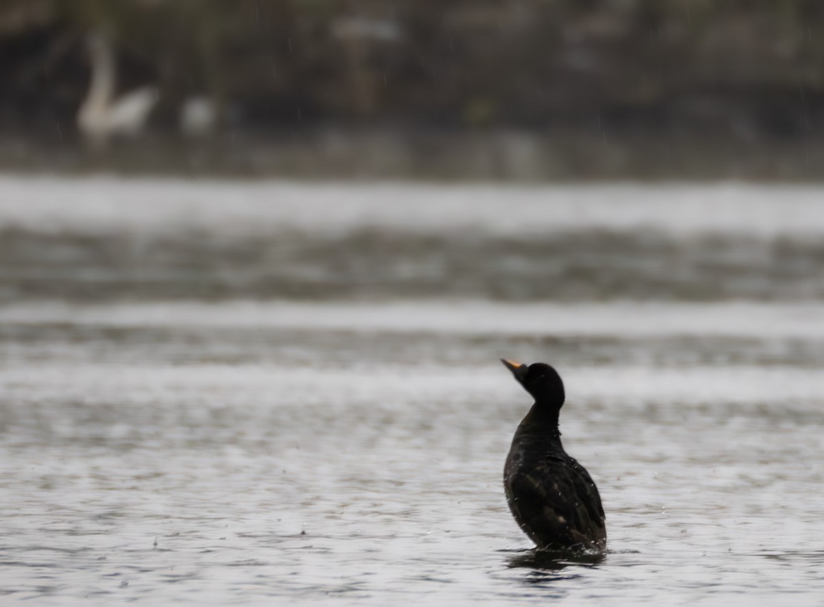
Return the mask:
[[824,180],[824,139],[757,145],[709,135],[442,132],[396,129],[160,134],[104,151],[59,138],[0,139],[0,171],[310,180],[588,180],[810,182]]

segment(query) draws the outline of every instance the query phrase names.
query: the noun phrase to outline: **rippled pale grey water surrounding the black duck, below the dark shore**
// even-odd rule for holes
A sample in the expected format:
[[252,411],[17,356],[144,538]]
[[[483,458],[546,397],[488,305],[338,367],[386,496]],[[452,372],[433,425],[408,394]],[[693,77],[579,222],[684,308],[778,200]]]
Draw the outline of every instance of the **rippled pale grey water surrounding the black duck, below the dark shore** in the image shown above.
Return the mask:
[[[0,599],[822,605],[824,189],[0,180]],[[599,563],[501,471],[553,363]]]

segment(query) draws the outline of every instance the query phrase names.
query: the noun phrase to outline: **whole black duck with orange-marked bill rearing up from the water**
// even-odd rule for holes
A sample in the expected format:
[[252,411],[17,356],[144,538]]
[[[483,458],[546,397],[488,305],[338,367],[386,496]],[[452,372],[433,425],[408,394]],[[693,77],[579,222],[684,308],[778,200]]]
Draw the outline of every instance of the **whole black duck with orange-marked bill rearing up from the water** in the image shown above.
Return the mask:
[[509,510],[539,549],[604,549],[601,496],[587,470],[561,445],[564,382],[542,362],[528,367],[502,362],[535,399],[517,427],[503,469]]

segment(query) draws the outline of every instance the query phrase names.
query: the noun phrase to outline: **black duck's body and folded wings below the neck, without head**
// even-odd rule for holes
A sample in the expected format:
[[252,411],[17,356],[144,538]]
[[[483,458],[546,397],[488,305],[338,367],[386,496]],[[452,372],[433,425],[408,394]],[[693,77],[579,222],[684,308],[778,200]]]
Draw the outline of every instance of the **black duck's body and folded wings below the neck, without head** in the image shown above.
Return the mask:
[[516,432],[503,487],[515,521],[538,548],[606,545],[601,496],[587,470],[566,454],[558,437]]

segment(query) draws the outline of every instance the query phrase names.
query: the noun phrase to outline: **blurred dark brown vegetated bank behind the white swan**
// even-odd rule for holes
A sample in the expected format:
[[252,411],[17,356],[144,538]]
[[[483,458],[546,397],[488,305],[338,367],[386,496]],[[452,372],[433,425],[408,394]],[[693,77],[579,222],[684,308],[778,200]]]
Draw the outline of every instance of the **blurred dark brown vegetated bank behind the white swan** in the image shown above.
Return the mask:
[[0,0],[0,133],[73,136],[92,31],[157,133],[824,134],[820,0]]

